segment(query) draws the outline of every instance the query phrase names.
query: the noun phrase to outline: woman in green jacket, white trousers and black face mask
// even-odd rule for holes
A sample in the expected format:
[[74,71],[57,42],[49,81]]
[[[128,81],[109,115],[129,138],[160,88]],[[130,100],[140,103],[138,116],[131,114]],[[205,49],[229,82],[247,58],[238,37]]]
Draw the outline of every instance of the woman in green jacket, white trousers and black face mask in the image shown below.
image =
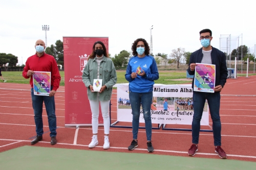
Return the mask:
[[[99,92],[96,92],[93,89],[94,79],[102,79],[102,87]],[[82,80],[87,87],[87,95],[92,111],[93,137],[92,142],[89,144],[89,148],[94,148],[98,144],[97,134],[100,103],[105,134],[103,149],[109,149],[109,105],[112,95],[112,87],[116,84],[117,78],[114,63],[109,58],[106,47],[101,41],[96,41],[93,45],[93,52],[88,58],[86,67],[83,69]]]

